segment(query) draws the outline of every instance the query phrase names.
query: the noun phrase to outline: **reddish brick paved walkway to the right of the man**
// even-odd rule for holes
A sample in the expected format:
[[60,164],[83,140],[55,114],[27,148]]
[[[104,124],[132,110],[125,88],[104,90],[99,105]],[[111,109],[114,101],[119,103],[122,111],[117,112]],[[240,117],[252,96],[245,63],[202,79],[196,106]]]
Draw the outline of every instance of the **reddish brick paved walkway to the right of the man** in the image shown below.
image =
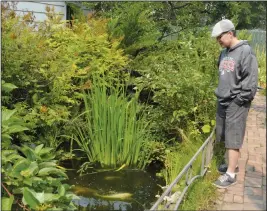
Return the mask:
[[237,182],[218,189],[217,210],[266,210],[266,97],[260,93],[248,115]]

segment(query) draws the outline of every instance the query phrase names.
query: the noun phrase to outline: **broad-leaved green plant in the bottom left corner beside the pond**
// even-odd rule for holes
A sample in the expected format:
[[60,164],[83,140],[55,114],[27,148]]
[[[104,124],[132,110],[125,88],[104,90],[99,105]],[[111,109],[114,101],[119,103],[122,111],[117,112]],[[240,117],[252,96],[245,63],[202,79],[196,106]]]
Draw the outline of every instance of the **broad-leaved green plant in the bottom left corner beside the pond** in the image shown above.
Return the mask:
[[[62,183],[68,177],[64,168],[53,160],[53,151],[43,144],[3,150],[2,185],[7,186],[4,196],[22,197],[23,204],[33,210],[75,210],[72,199],[76,196],[69,192],[69,185]],[[5,208],[8,209],[7,205]],[[12,210],[11,206],[8,210]]]

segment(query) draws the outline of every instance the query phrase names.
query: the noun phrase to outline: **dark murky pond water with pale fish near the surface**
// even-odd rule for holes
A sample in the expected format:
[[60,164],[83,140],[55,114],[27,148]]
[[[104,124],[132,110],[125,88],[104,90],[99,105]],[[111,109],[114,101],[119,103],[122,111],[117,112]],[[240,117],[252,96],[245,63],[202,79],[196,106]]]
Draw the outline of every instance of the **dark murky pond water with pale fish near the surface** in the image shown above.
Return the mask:
[[[76,165],[77,166],[77,165]],[[145,210],[150,209],[161,194],[164,181],[146,171],[123,169],[79,176],[77,170],[67,172],[68,183],[80,197],[74,203],[79,210]]]

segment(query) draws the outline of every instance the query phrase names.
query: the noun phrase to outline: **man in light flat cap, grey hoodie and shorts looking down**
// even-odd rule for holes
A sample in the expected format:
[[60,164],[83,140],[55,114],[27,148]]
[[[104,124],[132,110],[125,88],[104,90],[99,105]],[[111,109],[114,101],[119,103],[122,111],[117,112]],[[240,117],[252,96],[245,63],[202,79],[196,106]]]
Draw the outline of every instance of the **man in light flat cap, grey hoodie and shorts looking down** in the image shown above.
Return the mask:
[[211,36],[224,48],[219,56],[219,84],[215,90],[218,98],[216,139],[225,142],[228,154],[227,168],[220,168],[224,174],[214,185],[227,188],[236,183],[239,149],[243,144],[250,104],[257,91],[258,64],[247,41],[236,37],[230,20],[219,21]]

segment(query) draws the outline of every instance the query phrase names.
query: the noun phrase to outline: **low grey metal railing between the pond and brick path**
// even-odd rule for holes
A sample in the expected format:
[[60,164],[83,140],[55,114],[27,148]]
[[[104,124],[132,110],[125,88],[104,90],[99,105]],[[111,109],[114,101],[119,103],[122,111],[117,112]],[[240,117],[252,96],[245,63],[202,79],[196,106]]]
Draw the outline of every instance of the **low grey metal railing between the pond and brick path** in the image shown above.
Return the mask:
[[[189,188],[189,186],[199,177],[203,177],[208,170],[208,165],[211,162],[213,156],[213,146],[214,146],[214,133],[215,127],[213,128],[211,134],[206,139],[206,141],[202,144],[202,146],[198,149],[196,154],[191,158],[191,160],[186,164],[183,170],[179,173],[179,175],[173,180],[173,182],[167,187],[164,193],[159,197],[159,199],[155,202],[155,204],[150,208],[150,210],[178,210],[179,205],[181,204],[183,197]],[[202,162],[200,174],[192,177],[192,167],[193,163],[196,161],[199,154],[202,153]],[[178,182],[181,181],[181,178],[186,174],[185,188],[179,196],[176,197],[174,201],[170,200],[166,202],[166,197],[173,198],[175,192],[173,191],[174,187]],[[174,193],[173,193],[174,192]],[[177,193],[177,192],[176,192]],[[159,209],[160,206],[160,209]]]

